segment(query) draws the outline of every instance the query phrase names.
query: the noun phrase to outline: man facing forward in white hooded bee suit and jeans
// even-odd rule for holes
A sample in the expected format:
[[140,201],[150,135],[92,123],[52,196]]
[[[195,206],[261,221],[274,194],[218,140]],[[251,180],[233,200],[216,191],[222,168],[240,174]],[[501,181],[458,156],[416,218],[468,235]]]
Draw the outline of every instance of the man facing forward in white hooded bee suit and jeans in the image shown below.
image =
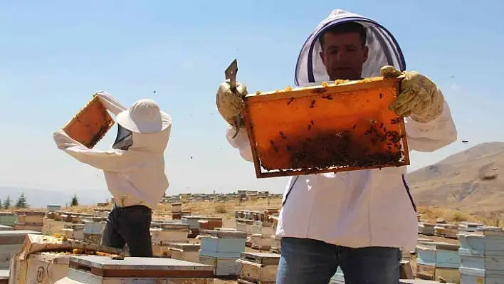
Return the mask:
[[[387,66],[387,67],[384,67]],[[295,85],[322,80],[403,76],[390,109],[403,115],[410,150],[433,152],[456,141],[443,94],[429,78],[407,72],[392,33],[372,19],[332,11],[308,37],[295,70]],[[246,94],[221,83],[219,112],[230,126],[229,143],[252,161],[246,130],[237,125]],[[236,127],[241,127],[233,139]],[[291,177],[276,231],[281,241],[277,284],[327,284],[340,267],[347,284],[397,284],[400,248],[414,251],[416,206],[406,167]]]

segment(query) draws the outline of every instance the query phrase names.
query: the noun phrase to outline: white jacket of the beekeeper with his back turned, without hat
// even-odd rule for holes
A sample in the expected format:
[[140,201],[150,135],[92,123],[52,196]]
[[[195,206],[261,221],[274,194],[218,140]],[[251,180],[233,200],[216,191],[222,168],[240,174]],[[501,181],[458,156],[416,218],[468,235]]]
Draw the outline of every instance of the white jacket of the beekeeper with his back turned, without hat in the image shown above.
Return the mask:
[[[128,109],[105,92],[98,93],[103,105],[117,117],[127,117]],[[131,109],[131,108],[130,108]],[[121,115],[125,114],[125,115]],[[162,113],[162,126],[159,132],[140,133],[131,131],[131,146],[127,149],[100,151],[88,149],[60,130],[54,133],[54,141],[59,149],[79,162],[102,169],[107,187],[117,206],[145,205],[154,209],[169,186],[164,172],[164,149],[167,147],[172,119]],[[127,120],[123,124],[124,127]],[[118,133],[118,136],[122,131]],[[117,140],[116,140],[117,142]]]

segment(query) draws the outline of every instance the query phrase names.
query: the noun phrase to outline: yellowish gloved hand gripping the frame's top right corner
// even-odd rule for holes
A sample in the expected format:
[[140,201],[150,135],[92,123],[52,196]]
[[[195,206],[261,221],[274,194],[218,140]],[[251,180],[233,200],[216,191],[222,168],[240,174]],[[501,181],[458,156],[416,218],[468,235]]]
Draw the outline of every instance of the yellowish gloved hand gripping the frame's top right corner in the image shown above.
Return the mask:
[[382,67],[380,72],[384,78],[403,78],[401,93],[389,110],[421,123],[430,122],[441,115],[443,94],[429,78],[414,71],[400,72],[389,65]]

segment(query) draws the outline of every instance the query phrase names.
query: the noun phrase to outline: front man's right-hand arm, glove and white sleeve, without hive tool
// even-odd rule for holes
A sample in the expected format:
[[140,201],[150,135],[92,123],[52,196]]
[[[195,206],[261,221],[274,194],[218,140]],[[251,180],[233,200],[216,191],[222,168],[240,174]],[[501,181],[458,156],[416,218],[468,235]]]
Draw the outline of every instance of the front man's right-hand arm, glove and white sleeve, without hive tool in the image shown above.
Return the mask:
[[457,140],[450,108],[436,84],[417,72],[399,72],[392,66],[382,68],[382,75],[404,78],[401,93],[389,108],[406,117],[409,150],[434,152]]

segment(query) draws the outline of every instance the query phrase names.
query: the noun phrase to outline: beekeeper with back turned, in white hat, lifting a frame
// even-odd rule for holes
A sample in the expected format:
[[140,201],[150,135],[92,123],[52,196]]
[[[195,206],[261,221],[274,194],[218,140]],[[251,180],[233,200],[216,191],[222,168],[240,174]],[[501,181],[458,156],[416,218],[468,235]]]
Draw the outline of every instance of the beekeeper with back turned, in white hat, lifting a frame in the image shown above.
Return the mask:
[[97,95],[116,116],[118,130],[112,149],[88,149],[63,130],[54,133],[54,141],[79,162],[103,169],[115,208],[107,218],[102,244],[120,249],[127,244],[131,256],[152,257],[152,209],[169,185],[164,149],[172,117],[159,110],[153,100],[138,100],[127,109],[108,93]]

